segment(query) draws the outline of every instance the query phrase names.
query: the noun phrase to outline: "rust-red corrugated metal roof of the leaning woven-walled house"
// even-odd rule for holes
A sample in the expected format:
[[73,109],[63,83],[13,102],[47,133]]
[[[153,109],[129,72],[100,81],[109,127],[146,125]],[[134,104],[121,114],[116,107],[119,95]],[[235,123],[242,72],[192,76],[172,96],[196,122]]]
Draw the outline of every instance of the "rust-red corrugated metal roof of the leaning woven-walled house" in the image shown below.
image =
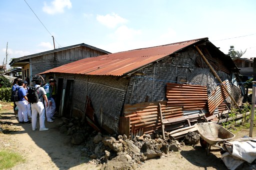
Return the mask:
[[154,61],[160,60],[165,56],[168,56],[201,40],[208,40],[208,38],[200,38],[161,46],[141,48],[101,55],[97,57],[84,58],[44,71],[40,74],[54,72],[86,75],[122,76]]

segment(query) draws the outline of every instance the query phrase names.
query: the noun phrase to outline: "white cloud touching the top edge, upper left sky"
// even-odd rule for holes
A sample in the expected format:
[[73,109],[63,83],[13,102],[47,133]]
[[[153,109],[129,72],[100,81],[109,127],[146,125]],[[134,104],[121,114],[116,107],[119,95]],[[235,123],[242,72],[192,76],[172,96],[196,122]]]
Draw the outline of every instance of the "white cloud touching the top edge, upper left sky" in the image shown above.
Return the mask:
[[63,13],[65,7],[68,9],[72,7],[70,0],[53,0],[50,2],[51,5],[48,5],[46,2],[43,3],[42,10],[48,14]]

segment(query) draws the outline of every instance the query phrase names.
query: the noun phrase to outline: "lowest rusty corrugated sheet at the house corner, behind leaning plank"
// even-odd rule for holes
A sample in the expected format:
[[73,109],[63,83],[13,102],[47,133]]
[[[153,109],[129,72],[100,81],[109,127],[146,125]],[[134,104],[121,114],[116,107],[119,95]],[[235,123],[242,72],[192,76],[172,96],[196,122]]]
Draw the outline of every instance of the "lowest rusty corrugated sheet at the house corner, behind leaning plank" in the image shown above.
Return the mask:
[[161,104],[163,119],[183,116],[181,107],[166,106],[166,101],[126,104],[124,117],[130,118],[130,131],[133,135],[152,134],[161,127],[158,103]]

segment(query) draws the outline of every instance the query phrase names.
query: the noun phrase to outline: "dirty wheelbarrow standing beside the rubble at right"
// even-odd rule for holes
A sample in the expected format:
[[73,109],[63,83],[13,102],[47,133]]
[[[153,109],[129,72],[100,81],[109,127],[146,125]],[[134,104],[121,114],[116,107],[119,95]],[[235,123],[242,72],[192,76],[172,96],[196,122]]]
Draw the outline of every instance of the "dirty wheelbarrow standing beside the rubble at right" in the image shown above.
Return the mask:
[[221,150],[221,142],[235,137],[230,131],[215,123],[197,123],[194,126],[200,135],[201,146],[206,147],[206,155],[209,155],[211,146]]

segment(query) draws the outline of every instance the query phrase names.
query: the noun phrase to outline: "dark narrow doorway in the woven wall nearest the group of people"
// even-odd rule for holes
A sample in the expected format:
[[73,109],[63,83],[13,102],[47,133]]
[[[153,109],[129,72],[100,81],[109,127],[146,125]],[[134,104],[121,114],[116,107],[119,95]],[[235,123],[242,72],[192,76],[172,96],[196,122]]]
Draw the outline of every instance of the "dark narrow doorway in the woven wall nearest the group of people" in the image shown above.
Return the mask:
[[66,80],[66,89],[64,96],[64,105],[63,105],[63,116],[70,118],[72,114],[72,95],[73,95],[73,80]]

